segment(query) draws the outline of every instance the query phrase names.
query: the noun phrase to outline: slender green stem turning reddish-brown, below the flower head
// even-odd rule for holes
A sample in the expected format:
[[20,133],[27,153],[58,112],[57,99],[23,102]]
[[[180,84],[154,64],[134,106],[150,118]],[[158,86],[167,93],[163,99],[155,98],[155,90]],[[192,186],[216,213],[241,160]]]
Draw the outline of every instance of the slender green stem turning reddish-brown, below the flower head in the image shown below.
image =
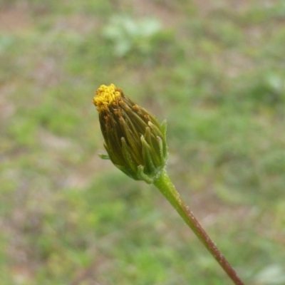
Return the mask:
[[160,190],[160,192],[162,192],[170,204],[172,204],[178,214],[180,214],[180,217],[185,220],[186,224],[188,224],[198,239],[202,242],[202,244],[204,244],[204,247],[206,247],[210,254],[212,254],[214,259],[218,261],[220,266],[222,266],[222,269],[224,269],[234,284],[244,285],[243,281],[239,279],[239,276],[237,276],[236,271],[234,271],[227,259],[224,258],[222,253],[215,246],[214,242],[212,242],[212,239],[209,238],[208,234],[204,231],[190,209],[186,206],[185,202],[182,201],[179,193],[175,189],[175,186],[172,184],[165,170],[163,170],[162,173],[155,179],[153,184]]

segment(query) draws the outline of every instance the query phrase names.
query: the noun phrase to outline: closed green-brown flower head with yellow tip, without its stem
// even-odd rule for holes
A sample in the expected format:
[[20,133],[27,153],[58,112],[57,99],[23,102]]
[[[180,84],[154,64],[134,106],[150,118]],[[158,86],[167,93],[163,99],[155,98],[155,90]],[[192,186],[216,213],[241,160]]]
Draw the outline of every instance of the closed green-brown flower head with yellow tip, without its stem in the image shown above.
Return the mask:
[[93,104],[108,158],[133,179],[152,183],[167,161],[166,123],[160,125],[114,84],[100,86]]

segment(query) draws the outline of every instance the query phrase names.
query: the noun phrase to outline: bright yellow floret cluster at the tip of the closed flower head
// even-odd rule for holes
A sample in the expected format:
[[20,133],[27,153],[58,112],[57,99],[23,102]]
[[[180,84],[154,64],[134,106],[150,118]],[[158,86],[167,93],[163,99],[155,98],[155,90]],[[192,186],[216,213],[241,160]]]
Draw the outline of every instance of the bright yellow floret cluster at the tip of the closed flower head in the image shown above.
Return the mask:
[[95,93],[93,104],[99,110],[105,105],[110,105],[119,97],[120,92],[117,90],[114,84],[110,84],[109,86],[101,85]]

